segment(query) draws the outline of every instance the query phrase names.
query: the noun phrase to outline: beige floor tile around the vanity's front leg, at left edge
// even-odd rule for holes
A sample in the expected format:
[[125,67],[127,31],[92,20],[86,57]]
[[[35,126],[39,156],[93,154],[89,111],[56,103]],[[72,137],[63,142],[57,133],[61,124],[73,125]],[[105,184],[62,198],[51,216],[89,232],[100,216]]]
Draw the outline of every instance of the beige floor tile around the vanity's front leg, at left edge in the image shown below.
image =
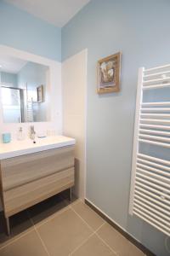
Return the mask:
[[[28,218],[27,212],[20,212],[10,218],[11,235],[6,234],[6,224],[3,218],[3,212],[0,214],[0,247],[14,241],[14,239],[22,236],[26,232],[33,230],[31,220]],[[1,255],[1,254],[0,254]]]

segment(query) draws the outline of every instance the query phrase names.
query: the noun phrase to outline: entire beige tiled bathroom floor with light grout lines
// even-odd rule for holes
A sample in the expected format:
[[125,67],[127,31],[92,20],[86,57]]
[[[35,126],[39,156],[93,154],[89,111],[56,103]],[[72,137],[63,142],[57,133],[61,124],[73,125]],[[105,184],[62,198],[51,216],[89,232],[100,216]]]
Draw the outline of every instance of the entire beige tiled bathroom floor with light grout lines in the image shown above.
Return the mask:
[[57,195],[11,218],[4,234],[0,218],[1,256],[144,256],[91,208]]

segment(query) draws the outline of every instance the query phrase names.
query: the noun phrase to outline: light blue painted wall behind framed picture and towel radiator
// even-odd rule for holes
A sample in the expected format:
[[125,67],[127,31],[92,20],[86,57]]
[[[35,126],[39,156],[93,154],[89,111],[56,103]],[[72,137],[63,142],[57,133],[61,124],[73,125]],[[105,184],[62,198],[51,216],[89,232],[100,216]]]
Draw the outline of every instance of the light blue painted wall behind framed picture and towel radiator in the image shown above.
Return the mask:
[[[92,0],[62,29],[62,59],[88,48],[87,198],[159,256],[165,237],[128,215],[139,67],[170,62],[168,0]],[[122,51],[121,91],[99,96],[97,61]]]

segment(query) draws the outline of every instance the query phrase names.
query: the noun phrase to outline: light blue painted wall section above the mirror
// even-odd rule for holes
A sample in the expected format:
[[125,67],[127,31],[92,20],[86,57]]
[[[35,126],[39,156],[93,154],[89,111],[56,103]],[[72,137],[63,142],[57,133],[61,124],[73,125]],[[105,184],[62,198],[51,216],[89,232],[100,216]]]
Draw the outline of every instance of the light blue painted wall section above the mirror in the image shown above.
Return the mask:
[[0,0],[0,44],[61,60],[61,30]]

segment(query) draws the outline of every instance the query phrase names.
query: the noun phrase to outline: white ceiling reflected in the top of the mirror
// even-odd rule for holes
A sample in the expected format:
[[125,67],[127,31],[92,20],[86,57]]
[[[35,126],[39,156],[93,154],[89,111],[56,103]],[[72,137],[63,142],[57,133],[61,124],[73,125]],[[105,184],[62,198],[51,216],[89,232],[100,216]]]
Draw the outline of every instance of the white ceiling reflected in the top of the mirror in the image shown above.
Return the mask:
[[0,72],[19,73],[20,69],[26,65],[27,61],[13,58],[7,55],[0,55]]

